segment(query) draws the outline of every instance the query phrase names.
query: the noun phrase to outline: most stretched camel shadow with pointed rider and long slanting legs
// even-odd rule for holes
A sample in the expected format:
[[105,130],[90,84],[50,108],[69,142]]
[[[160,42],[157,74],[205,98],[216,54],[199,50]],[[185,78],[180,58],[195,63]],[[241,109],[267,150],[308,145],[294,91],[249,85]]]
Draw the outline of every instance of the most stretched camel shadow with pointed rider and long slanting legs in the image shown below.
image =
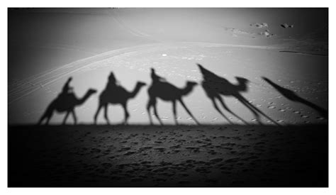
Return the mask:
[[220,111],[220,108],[218,107],[216,103],[216,99],[220,102],[220,104],[223,106],[223,108],[231,113],[233,116],[236,118],[240,119],[242,122],[245,124],[247,121],[242,119],[240,116],[237,116],[236,113],[231,111],[228,106],[223,101],[222,96],[233,96],[235,97],[242,105],[244,105],[246,108],[248,108],[254,115],[254,117],[257,119],[257,122],[259,124],[262,124],[260,121],[261,116],[264,116],[267,118],[269,121],[275,123],[276,125],[279,125],[271,119],[269,116],[267,116],[264,112],[260,111],[258,108],[253,106],[247,99],[245,99],[244,96],[242,96],[242,92],[248,91],[247,84],[249,80],[243,78],[243,77],[235,77],[237,79],[238,84],[232,84],[230,83],[227,79],[223,77],[219,77],[218,75],[214,74],[210,70],[204,68],[202,65],[197,64],[199,69],[201,69],[201,74],[203,75],[203,81],[201,83],[204,91],[206,91],[206,95],[208,96],[209,99],[211,99],[211,102],[213,103],[213,107],[215,108],[216,111],[220,113],[229,123],[233,124],[230,119],[225,116],[225,114]]

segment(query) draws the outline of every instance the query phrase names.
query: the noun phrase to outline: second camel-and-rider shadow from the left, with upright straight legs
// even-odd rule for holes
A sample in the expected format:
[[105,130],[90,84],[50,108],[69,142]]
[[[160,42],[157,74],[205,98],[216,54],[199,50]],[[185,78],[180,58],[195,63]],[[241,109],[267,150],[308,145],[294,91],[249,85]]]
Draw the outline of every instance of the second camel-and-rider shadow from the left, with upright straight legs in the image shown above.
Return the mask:
[[104,118],[106,122],[110,124],[110,121],[108,119],[108,104],[121,104],[121,106],[123,106],[123,110],[125,111],[125,119],[123,123],[127,124],[128,118],[130,117],[127,109],[128,100],[135,98],[140,89],[145,85],[146,84],[144,82],[137,82],[133,91],[127,91],[119,84],[113,72],[111,72],[108,76],[108,82],[105,89],[103,89],[103,91],[99,95],[99,105],[96,114],[94,115],[94,123],[96,124],[99,111],[101,111],[101,108],[103,108]]

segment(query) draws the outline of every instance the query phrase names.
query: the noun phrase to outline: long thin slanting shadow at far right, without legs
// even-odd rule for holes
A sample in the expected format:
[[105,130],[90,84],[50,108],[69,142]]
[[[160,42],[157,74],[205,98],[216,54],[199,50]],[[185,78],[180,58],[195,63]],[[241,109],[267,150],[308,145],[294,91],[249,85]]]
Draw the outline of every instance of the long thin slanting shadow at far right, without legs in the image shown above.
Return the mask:
[[306,99],[303,99],[301,96],[298,96],[298,94],[296,94],[294,91],[291,91],[289,89],[279,86],[278,84],[272,82],[267,77],[262,77],[262,79],[264,79],[264,81],[266,81],[272,87],[274,87],[274,89],[276,89],[276,91],[278,91],[282,96],[286,97],[286,99],[299,102],[301,104],[305,104],[306,106],[309,106],[310,108],[315,109],[315,111],[318,111],[321,116],[327,118],[328,113],[327,113],[327,110],[325,110],[324,108],[321,108],[320,106],[313,104],[312,102]]

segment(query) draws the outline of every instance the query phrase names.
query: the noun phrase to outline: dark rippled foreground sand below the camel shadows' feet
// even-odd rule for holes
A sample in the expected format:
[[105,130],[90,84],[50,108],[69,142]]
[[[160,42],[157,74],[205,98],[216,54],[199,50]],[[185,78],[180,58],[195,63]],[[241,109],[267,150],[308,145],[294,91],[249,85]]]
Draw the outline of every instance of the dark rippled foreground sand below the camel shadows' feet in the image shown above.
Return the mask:
[[328,186],[327,125],[9,126],[9,186]]

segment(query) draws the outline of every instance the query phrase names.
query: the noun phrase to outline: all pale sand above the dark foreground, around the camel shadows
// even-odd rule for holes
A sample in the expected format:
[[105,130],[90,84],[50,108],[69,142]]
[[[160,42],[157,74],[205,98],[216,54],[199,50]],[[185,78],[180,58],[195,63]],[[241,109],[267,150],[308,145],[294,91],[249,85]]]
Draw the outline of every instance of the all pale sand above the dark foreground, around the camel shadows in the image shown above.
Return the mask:
[[[235,77],[249,79],[242,96],[274,121],[327,123],[314,109],[284,98],[262,80],[267,77],[327,109],[327,11],[323,9],[23,9],[10,13],[11,125],[36,123],[68,77],[73,77],[71,85],[78,97],[89,88],[101,93],[111,71],[129,91],[138,81],[150,85],[151,67],[168,82],[184,87],[187,80],[201,83],[196,63],[232,84],[237,84]],[[282,28],[284,22],[294,28]],[[267,27],[258,28],[257,23]],[[265,30],[276,35],[261,35]],[[130,123],[149,122],[147,87],[128,104]],[[228,123],[201,87],[184,100],[198,121]],[[251,111],[235,98],[224,100],[238,116],[255,123]],[[79,123],[93,122],[97,101],[98,94],[77,108]],[[159,102],[158,110],[164,123],[174,123],[171,104]],[[180,123],[195,124],[183,108],[177,111]],[[120,106],[110,108],[108,115],[112,123],[123,120]],[[230,113],[225,115],[240,123]],[[63,117],[64,113],[55,114],[51,123],[58,125]],[[99,123],[105,124],[102,116]]]

